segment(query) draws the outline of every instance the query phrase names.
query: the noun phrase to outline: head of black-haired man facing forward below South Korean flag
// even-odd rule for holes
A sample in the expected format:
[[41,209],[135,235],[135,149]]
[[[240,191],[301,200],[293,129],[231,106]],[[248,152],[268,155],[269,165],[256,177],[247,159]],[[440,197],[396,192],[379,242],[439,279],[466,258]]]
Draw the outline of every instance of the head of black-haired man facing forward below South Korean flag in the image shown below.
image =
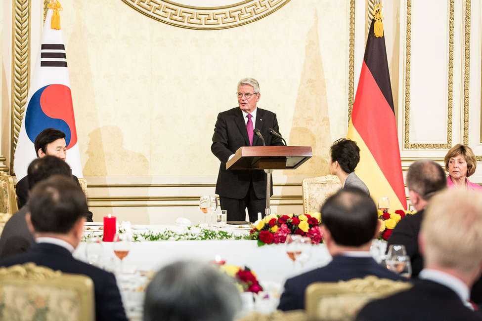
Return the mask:
[[65,133],[54,128],[45,128],[37,135],[34,142],[37,157],[51,155],[65,161],[67,156],[67,144]]

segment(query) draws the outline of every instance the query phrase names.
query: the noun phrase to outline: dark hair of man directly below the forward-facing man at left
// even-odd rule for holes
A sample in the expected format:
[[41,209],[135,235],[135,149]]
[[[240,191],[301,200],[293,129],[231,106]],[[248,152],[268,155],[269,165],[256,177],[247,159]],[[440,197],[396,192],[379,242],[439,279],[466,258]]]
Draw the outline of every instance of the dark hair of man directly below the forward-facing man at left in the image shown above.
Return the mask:
[[27,169],[29,190],[38,182],[49,178],[52,175],[63,175],[72,178],[69,164],[55,156],[45,156],[33,160]]

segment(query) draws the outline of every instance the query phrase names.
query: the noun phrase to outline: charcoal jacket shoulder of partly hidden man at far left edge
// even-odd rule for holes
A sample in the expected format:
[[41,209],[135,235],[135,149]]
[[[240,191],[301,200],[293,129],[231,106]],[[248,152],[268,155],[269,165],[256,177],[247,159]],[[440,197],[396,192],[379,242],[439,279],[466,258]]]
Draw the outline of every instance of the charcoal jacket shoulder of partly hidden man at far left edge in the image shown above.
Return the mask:
[[35,244],[25,221],[27,211],[26,206],[20,208],[5,223],[0,235],[0,259],[26,252]]

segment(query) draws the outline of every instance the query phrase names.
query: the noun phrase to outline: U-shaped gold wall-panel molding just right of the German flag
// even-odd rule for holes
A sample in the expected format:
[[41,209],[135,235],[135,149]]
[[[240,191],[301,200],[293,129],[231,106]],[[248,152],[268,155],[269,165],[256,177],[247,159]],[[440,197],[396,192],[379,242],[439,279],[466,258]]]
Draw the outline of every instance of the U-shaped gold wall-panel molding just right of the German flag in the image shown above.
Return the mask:
[[454,10],[455,0],[450,0],[449,44],[448,44],[448,97],[447,97],[447,142],[446,143],[410,143],[410,49],[412,28],[412,0],[407,0],[407,30],[405,59],[405,149],[447,149],[452,147],[452,107],[453,107],[453,52],[454,52]]

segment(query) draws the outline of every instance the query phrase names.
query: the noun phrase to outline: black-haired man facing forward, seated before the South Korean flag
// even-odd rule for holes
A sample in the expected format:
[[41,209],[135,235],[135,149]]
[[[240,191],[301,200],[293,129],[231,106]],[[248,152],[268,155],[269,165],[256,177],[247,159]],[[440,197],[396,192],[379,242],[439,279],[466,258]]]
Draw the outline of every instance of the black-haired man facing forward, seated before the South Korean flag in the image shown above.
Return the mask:
[[[54,128],[45,128],[37,135],[34,142],[35,153],[38,158],[43,158],[47,155],[55,156],[62,161],[67,157],[67,144],[65,143],[65,133]],[[77,183],[78,178],[72,175]],[[29,199],[29,179],[28,175],[17,182],[15,193],[17,194],[18,208],[22,208]],[[87,212],[87,220],[92,222],[92,212]]]

